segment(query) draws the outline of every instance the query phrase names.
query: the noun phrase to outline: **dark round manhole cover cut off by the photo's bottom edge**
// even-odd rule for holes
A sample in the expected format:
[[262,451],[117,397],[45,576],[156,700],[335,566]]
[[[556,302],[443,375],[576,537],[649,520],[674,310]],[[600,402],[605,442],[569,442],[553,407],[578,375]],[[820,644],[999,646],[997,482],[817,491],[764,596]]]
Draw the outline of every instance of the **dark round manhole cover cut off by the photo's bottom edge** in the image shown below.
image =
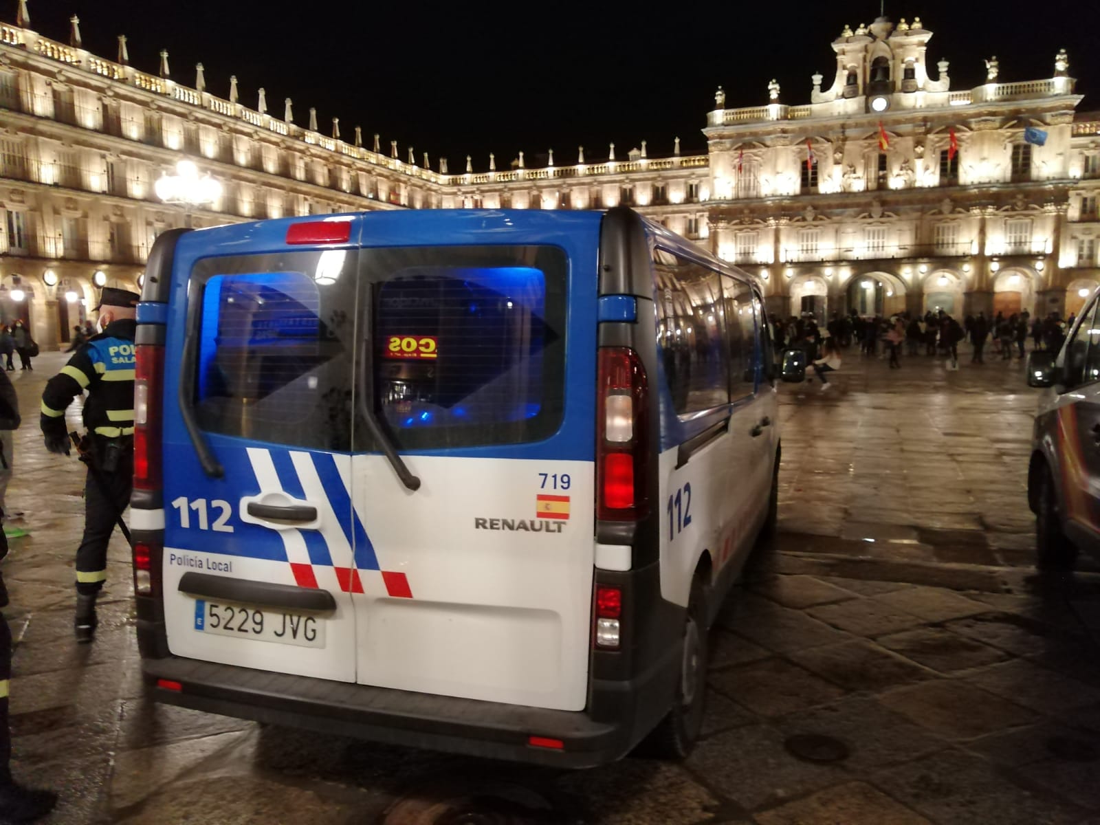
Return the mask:
[[410,793],[386,810],[381,825],[543,825],[560,821],[536,791],[494,785]]

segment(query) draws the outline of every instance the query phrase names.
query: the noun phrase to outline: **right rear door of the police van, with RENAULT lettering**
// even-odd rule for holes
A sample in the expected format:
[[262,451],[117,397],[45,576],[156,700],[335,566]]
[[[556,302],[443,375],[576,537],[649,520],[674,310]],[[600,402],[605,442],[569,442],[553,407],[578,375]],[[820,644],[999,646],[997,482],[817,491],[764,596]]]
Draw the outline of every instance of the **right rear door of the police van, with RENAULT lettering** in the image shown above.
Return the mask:
[[[585,706],[593,218],[583,255],[569,251],[581,241],[568,235],[562,245],[361,251],[367,356],[356,375],[364,424],[355,427],[351,487],[363,684]],[[578,257],[592,264],[571,278]],[[367,436],[372,417],[418,488]]]

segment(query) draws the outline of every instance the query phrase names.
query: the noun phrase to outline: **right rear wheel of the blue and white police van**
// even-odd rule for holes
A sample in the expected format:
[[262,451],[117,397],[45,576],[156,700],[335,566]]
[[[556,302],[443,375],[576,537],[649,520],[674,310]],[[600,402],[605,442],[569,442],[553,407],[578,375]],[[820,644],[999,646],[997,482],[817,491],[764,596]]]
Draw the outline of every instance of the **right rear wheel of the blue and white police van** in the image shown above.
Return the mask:
[[703,729],[706,672],[711,659],[706,627],[706,586],[696,576],[684,622],[683,656],[672,710],[649,735],[647,751],[666,759],[684,759]]

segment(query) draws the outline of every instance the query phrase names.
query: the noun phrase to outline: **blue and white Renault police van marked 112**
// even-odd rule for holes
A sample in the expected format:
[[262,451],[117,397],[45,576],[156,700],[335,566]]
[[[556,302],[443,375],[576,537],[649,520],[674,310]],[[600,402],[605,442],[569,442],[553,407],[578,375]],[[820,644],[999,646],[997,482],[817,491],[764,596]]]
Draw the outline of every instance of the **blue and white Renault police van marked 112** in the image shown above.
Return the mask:
[[749,275],[636,212],[174,230],[138,309],[160,701],[563,767],[698,734],[776,524]]

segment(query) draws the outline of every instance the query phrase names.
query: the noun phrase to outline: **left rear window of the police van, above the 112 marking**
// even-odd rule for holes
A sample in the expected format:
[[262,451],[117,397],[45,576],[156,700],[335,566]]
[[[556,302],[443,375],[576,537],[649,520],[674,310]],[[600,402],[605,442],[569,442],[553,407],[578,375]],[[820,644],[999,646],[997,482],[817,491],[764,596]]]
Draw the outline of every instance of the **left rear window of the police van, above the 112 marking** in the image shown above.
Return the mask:
[[333,250],[199,263],[200,427],[350,449],[354,258]]

